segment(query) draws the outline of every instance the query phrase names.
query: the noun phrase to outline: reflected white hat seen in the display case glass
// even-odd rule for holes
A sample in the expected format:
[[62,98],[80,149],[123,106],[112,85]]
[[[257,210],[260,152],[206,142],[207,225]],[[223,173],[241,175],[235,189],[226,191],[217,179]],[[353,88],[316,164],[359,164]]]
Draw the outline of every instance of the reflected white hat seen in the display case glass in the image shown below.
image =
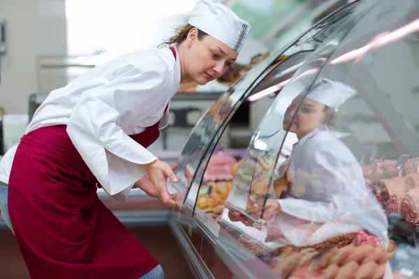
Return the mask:
[[336,110],[355,94],[356,91],[346,84],[321,78],[311,86],[306,98]]

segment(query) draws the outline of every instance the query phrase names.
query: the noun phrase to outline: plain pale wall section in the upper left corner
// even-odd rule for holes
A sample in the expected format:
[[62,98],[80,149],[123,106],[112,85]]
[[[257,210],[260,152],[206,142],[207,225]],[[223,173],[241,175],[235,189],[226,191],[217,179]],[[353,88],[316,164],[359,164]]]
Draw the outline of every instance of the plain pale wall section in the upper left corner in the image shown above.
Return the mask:
[[64,0],[1,0],[6,19],[6,54],[1,56],[0,105],[27,113],[38,91],[36,57],[66,54]]

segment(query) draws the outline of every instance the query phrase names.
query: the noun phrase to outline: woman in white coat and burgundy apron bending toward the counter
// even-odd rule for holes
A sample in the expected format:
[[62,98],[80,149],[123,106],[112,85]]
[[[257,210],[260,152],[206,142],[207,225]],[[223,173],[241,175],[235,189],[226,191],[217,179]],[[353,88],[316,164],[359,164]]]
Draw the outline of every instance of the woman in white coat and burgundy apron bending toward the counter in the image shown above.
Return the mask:
[[250,28],[226,6],[199,1],[170,40],[174,47],[119,57],[50,93],[0,164],[31,278],[163,278],[156,259],[98,199],[96,186],[121,203],[138,187],[175,206],[166,184],[177,182],[175,166],[147,146],[167,126],[179,82],[205,84],[223,75]]

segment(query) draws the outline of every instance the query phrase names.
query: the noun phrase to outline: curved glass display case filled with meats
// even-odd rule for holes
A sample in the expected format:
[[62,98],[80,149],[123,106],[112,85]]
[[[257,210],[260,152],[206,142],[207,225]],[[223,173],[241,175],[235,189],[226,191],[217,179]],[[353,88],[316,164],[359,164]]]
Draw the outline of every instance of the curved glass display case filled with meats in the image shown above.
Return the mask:
[[[402,257],[419,223],[418,20],[417,1],[355,1],[201,118],[170,226],[202,278],[418,276]],[[263,116],[247,144],[228,142],[244,103]]]

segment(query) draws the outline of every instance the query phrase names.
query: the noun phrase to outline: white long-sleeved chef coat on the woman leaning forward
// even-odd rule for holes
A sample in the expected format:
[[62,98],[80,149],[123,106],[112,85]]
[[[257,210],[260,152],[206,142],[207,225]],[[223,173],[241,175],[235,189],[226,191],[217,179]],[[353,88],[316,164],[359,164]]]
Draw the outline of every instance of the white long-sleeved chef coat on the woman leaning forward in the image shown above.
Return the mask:
[[[103,189],[124,203],[135,181],[145,175],[135,164],[156,160],[128,135],[141,133],[161,119],[179,83],[179,59],[170,49],[126,54],[52,91],[25,133],[66,125],[71,142]],[[168,122],[167,111],[159,128]],[[4,183],[8,183],[16,149],[13,146],[0,161]]]

